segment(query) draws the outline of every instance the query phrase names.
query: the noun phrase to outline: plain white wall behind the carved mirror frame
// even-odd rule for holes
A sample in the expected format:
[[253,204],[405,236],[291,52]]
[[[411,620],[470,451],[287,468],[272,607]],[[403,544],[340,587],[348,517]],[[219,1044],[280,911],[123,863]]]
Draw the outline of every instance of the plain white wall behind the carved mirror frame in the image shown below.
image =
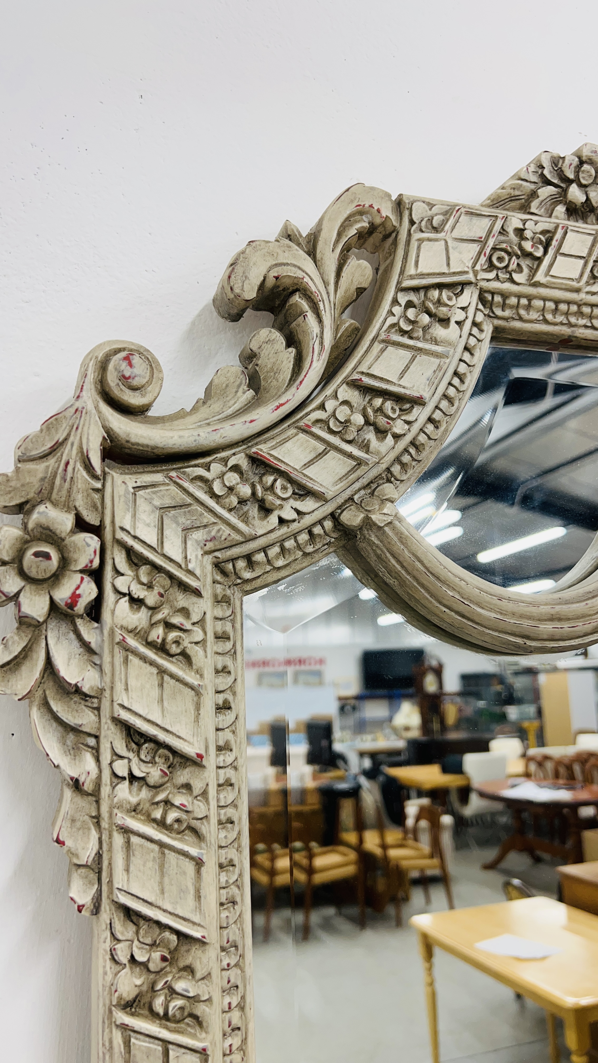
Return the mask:
[[[20,0],[0,37],[0,468],[83,355],[137,340],[189,405],[253,323],[229,257],[344,187],[476,202],[538,150],[598,140],[595,5]],[[57,779],[2,707],[0,1029],[15,1063],[88,1058],[89,925],[50,843]]]

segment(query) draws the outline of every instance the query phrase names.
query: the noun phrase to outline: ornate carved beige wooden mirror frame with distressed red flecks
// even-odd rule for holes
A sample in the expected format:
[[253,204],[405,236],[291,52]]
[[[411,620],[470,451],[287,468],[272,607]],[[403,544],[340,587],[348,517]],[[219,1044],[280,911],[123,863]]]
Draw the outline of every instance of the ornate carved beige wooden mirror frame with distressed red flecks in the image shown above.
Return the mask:
[[[269,310],[272,327],[190,411],[149,416],[156,358],[101,343],[72,403],[18,444],[0,477],[3,512],[23,514],[0,530],[17,617],[0,689],[29,699],[62,775],[53,837],[95,923],[96,1063],[254,1056],[244,594],[334,551],[446,642],[598,641],[596,544],[552,591],[520,596],[395,506],[491,337],[596,351],[597,221],[594,145],[543,153],[481,206],[354,185],[306,236],[285,222],[230,261],[216,309]],[[370,285],[360,327],[346,310]]]

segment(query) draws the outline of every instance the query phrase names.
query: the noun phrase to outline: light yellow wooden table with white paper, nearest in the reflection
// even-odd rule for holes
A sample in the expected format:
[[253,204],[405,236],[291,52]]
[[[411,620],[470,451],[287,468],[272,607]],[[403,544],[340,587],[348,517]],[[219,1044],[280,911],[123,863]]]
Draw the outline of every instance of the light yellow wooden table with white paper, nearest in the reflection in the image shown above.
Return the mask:
[[[419,934],[433,1063],[439,1063],[436,991],[432,967],[434,945],[496,978],[546,1009],[565,1024],[571,1063],[589,1063],[589,1024],[598,1019],[598,917],[549,897],[529,897],[500,905],[462,908],[433,915],[414,915]],[[476,948],[499,934],[553,945],[562,949],[544,960],[516,960]],[[551,1056],[559,1059],[553,1022],[549,1018]]]

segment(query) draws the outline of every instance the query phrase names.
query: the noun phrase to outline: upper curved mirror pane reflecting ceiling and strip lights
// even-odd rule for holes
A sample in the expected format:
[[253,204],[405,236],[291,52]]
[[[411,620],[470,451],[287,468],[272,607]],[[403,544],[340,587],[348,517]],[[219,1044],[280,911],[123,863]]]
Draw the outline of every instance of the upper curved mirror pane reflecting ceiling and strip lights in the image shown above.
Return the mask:
[[401,512],[468,572],[549,590],[598,528],[598,358],[491,347]]

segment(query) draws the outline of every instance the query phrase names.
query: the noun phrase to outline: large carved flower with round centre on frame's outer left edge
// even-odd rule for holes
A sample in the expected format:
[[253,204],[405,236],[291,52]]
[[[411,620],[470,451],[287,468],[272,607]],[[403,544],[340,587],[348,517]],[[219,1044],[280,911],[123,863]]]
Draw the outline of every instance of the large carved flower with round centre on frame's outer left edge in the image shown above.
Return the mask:
[[74,513],[41,502],[26,514],[22,530],[0,528],[0,604],[16,602],[17,621],[41,624],[50,601],[81,617],[98,589],[85,574],[97,569],[100,540],[74,533]]

